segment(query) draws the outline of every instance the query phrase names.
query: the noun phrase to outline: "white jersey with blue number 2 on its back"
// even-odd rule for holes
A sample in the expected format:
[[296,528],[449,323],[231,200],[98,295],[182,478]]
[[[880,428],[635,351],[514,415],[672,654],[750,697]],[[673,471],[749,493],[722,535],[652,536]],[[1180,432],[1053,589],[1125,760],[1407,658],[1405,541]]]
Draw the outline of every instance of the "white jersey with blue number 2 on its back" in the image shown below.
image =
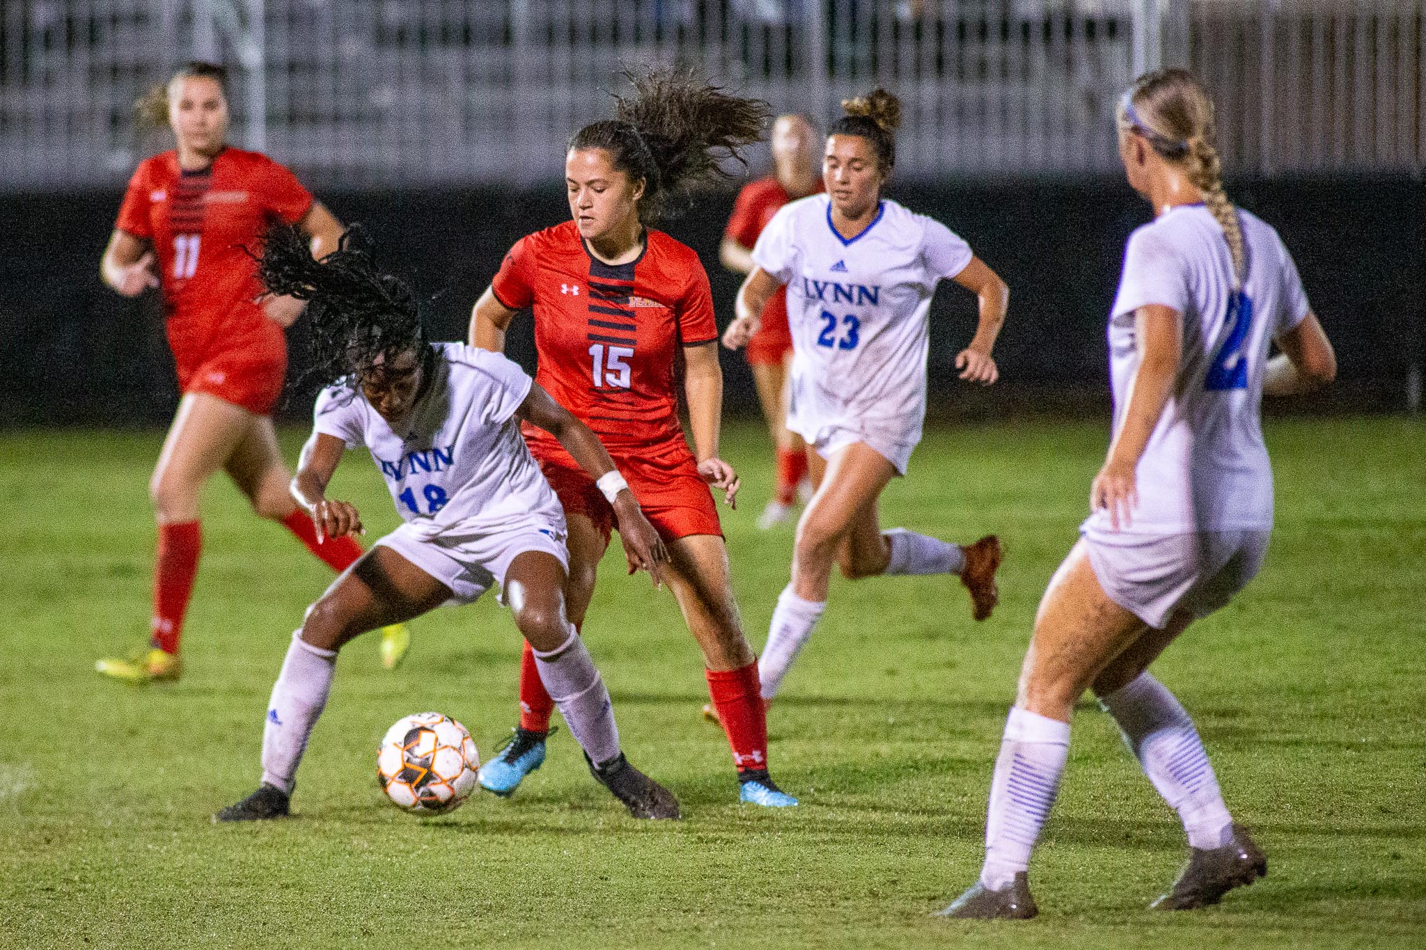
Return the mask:
[[[1179,205],[1129,235],[1109,315],[1114,432],[1139,366],[1134,312],[1148,303],[1184,318],[1184,353],[1158,427],[1139,459],[1139,503],[1127,531],[1268,530],[1272,466],[1259,404],[1268,348],[1308,315],[1308,296],[1278,232],[1238,212],[1248,278],[1233,292],[1228,241],[1202,205]],[[1107,513],[1085,527],[1108,530]]]

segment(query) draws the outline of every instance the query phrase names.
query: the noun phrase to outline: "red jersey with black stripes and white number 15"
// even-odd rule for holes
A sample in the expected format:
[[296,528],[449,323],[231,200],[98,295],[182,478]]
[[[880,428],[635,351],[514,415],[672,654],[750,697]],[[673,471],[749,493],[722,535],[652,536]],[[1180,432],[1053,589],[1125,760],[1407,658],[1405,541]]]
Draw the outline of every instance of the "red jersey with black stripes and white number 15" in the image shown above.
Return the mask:
[[[620,265],[595,258],[573,221],[520,238],[491,283],[512,310],[530,308],[535,382],[612,449],[680,437],[674,360],[717,339],[713,293],[692,248],[649,231]],[[525,427],[532,447],[553,436]]]

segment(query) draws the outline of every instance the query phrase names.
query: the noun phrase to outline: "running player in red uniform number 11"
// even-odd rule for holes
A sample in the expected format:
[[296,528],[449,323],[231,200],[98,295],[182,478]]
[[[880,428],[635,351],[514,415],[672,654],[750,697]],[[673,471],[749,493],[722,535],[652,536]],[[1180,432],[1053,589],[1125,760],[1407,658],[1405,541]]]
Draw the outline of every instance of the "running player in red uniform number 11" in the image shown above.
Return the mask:
[[[138,107],[173,128],[177,147],[140,162],[100,263],[124,296],[161,288],[165,330],[183,399],[154,467],[148,493],[158,518],[150,641],[127,659],[96,669],[130,682],[177,679],[178,638],[198,574],[198,499],[220,469],[262,517],[271,518],[335,571],[361,547],[325,541],[288,494],[271,412],[287,372],[284,329],[301,305],[270,296],[242,248],[272,222],[295,222],[317,256],[337,248],[342,225],[282,165],[227,144],[225,73],[188,63]],[[395,667],[409,644],[404,627],[385,631],[382,661]]]

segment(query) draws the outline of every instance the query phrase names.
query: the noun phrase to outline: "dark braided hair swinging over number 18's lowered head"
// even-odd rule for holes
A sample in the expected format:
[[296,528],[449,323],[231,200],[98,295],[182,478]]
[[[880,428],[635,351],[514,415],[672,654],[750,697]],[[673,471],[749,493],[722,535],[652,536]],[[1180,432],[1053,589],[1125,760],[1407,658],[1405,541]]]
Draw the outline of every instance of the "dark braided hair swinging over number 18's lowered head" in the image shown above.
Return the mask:
[[258,281],[270,293],[307,301],[311,323],[311,376],[355,390],[378,366],[415,353],[429,370],[435,350],[421,322],[415,292],[382,271],[361,225],[342,235],[337,251],[312,259],[308,236],[295,225],[268,229],[254,255]]

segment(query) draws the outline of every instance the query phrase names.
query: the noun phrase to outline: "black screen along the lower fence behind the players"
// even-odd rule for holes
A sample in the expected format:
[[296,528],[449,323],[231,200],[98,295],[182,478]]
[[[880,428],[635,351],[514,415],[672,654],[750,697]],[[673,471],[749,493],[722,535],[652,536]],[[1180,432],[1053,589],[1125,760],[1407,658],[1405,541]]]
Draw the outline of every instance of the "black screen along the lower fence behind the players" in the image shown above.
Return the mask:
[[[974,328],[974,299],[945,283],[933,308],[931,413],[983,419],[1107,412],[1104,322],[1124,241],[1149,208],[1121,178],[1002,181],[893,188],[891,197],[944,221],[1011,288],[997,346],[1001,382],[958,383],[951,356]],[[1231,181],[1229,195],[1273,224],[1296,258],[1339,359],[1339,383],[1316,409],[1405,407],[1409,367],[1426,360],[1426,187],[1407,178]],[[436,339],[465,339],[471,305],[522,235],[563,221],[558,187],[530,192],[331,191],[342,221],[361,221],[388,262],[426,295]],[[720,326],[739,278],[717,263],[733,195],[703,197],[663,222],[703,255]],[[154,424],[177,404],[155,299],[125,301],[98,278],[118,192],[0,195],[0,424]],[[289,385],[278,414],[302,419],[317,380],[302,380],[305,336],[288,333]],[[533,369],[528,319],[512,357]],[[756,414],[742,355],[723,353],[726,404]]]

